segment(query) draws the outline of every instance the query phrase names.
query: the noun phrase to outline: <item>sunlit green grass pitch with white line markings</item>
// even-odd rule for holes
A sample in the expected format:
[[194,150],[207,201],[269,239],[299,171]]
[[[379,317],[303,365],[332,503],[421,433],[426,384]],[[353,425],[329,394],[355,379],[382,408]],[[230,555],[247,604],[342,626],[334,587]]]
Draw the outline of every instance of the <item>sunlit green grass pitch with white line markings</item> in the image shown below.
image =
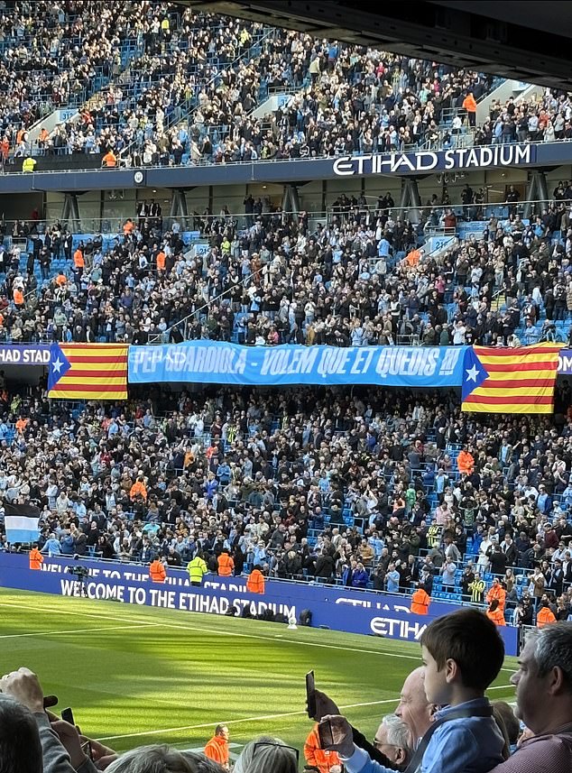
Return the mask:
[[[226,722],[235,751],[269,733],[301,749],[311,729],[304,675],[368,737],[392,713],[418,644],[196,612],[0,589],[1,673],[27,666],[115,750],[202,747]],[[490,693],[513,700],[514,658]],[[301,759],[300,759],[300,768]]]

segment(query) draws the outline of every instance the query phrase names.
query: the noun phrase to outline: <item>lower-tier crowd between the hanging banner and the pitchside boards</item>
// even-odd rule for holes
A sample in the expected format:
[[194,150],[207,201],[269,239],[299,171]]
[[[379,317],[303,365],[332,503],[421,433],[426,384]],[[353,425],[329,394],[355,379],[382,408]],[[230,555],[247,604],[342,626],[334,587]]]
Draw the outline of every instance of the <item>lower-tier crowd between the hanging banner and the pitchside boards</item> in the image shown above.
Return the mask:
[[531,621],[546,602],[558,619],[570,613],[567,383],[557,425],[467,418],[454,395],[374,389],[157,390],[73,416],[40,391],[5,400],[0,437],[12,425],[15,437],[0,492],[39,502],[45,555],[184,568],[200,554],[216,573],[226,551],[237,575],[421,583],[475,603],[493,599],[500,575],[503,612],[530,603]]

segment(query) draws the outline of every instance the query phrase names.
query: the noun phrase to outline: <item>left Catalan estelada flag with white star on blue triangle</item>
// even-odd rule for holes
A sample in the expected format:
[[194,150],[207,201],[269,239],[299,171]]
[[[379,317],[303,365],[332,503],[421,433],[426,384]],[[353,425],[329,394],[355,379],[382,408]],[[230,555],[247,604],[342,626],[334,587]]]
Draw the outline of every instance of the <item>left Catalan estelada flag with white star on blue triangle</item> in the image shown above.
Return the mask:
[[48,397],[55,400],[126,400],[124,344],[52,344]]

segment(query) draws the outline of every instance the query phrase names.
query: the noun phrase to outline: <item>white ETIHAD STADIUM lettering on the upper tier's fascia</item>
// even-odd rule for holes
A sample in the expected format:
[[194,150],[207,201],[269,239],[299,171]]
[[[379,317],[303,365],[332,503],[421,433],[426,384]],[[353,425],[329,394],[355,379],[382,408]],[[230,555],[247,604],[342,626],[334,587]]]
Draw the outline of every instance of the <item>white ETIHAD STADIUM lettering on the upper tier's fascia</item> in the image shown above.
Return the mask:
[[416,151],[408,153],[365,154],[340,156],[332,164],[338,177],[370,174],[407,174],[457,169],[487,169],[533,164],[536,145],[492,145],[456,148],[448,151]]

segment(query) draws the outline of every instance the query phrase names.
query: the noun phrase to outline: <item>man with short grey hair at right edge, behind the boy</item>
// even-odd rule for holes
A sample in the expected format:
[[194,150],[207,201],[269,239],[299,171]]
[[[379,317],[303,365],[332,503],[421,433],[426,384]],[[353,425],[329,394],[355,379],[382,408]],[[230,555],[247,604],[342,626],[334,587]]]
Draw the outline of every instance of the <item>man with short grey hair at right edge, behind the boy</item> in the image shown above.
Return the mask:
[[532,733],[491,773],[572,770],[572,622],[546,626],[526,642],[516,685],[516,715]]

